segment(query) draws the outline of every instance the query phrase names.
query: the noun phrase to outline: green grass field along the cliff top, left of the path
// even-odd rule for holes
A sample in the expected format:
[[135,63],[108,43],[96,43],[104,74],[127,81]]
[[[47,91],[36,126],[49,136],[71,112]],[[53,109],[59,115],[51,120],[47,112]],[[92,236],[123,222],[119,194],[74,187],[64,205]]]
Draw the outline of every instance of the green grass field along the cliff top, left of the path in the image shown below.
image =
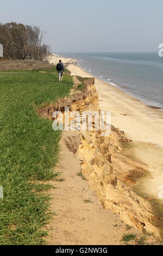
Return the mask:
[[73,86],[57,72],[0,72],[0,245],[41,245],[52,217],[47,183],[58,174],[60,132],[36,107],[67,96]]

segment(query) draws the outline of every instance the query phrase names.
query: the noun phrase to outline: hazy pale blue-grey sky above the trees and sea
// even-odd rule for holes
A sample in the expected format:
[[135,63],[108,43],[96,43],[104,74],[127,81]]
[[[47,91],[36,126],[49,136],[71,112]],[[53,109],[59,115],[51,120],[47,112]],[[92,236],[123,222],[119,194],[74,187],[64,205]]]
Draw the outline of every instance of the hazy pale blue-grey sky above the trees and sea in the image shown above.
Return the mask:
[[158,51],[162,0],[8,0],[0,22],[37,25],[53,52]]

